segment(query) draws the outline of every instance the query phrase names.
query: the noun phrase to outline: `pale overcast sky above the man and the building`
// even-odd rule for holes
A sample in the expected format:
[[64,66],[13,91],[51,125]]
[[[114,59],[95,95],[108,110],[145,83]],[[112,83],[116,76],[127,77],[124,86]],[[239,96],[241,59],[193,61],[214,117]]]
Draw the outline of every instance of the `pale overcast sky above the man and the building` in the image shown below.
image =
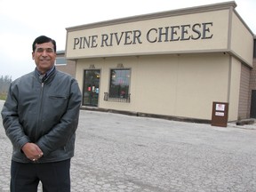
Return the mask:
[[[12,80],[36,67],[32,43],[50,36],[64,50],[66,28],[152,12],[164,12],[221,0],[0,0],[0,76]],[[236,11],[256,34],[256,0],[236,0]]]

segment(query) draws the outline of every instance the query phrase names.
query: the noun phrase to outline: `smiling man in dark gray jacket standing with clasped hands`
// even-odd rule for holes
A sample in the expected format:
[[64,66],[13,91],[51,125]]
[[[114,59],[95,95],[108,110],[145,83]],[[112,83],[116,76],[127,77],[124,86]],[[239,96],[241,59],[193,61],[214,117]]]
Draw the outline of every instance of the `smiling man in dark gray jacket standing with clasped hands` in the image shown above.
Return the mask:
[[32,45],[35,71],[12,82],[2,110],[12,141],[11,191],[70,191],[81,92],[76,79],[54,67],[56,43],[38,36]]

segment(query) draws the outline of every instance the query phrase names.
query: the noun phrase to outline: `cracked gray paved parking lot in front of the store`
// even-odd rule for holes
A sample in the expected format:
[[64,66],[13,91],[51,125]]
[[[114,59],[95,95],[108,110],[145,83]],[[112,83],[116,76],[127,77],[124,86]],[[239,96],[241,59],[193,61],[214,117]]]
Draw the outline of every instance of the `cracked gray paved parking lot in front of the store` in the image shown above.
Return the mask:
[[[81,110],[76,133],[72,192],[256,191],[255,125],[223,128]],[[9,191],[11,153],[1,119],[1,192]]]

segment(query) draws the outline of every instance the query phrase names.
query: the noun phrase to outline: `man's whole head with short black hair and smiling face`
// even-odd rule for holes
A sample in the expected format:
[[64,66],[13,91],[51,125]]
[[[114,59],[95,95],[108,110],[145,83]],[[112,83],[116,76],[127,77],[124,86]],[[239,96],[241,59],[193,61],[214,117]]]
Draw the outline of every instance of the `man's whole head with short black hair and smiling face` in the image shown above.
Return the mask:
[[56,42],[47,36],[38,36],[32,44],[32,58],[36,68],[44,74],[54,66],[56,59]]

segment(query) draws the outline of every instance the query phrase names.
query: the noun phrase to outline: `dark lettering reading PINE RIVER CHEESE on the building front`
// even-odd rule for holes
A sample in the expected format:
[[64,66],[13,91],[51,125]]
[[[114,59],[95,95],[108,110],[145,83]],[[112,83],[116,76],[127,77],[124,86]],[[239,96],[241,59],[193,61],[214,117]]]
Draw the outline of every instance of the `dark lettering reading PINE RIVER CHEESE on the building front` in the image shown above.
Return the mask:
[[73,38],[73,50],[143,44],[144,42],[156,44],[212,39],[212,26],[213,22],[203,22],[150,28],[145,32],[140,29],[133,29],[121,32],[102,33],[100,35],[77,36]]

